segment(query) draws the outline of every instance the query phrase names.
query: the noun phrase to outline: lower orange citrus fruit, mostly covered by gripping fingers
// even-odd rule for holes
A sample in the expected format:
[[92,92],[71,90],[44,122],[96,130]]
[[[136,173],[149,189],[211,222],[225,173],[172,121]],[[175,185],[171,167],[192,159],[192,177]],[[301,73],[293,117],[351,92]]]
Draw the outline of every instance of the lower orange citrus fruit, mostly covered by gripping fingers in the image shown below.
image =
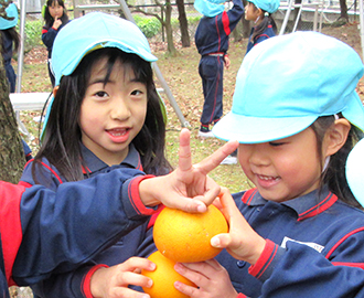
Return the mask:
[[148,259],[153,262],[157,265],[157,268],[153,272],[141,272],[142,275],[150,277],[153,280],[153,286],[151,288],[142,288],[144,292],[149,294],[151,298],[189,297],[174,288],[174,281],[179,280],[185,285],[193,287],[195,287],[195,285],[174,270],[173,267],[175,262],[164,257],[158,251],[151,254]]

